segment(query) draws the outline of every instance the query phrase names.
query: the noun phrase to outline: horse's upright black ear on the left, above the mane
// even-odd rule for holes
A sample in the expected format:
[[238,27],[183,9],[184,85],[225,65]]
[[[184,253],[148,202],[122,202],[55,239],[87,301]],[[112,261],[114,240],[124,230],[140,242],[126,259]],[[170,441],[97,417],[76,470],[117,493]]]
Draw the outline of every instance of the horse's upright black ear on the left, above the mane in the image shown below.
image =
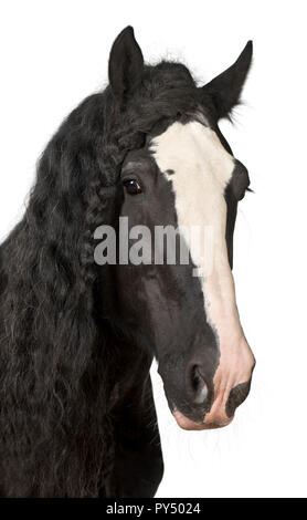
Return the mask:
[[141,82],[144,58],[128,25],[116,38],[109,54],[108,76],[114,97],[121,106]]

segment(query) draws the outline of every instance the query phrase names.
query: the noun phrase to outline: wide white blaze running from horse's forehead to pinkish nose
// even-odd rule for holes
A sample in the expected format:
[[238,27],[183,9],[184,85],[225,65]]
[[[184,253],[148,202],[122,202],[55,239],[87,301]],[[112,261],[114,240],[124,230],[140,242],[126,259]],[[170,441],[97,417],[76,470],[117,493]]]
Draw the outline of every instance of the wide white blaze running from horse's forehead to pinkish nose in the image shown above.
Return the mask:
[[[193,263],[203,273],[200,282],[207,319],[219,339],[221,360],[214,384],[224,403],[233,386],[250,379],[253,363],[239,319],[225,240],[224,189],[232,177],[234,159],[215,132],[199,122],[173,123],[155,137],[152,150],[162,175],[172,183],[178,226],[208,227],[212,232],[213,262],[209,271],[203,243],[195,247],[193,240],[186,239]],[[167,173],[170,169],[173,175]]]

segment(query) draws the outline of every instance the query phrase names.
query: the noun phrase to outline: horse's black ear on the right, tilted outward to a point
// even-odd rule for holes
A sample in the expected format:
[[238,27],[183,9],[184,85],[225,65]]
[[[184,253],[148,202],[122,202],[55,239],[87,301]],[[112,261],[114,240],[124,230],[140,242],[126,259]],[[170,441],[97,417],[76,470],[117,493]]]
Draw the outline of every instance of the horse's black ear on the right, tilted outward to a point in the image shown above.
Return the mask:
[[202,87],[213,102],[218,119],[226,117],[239,104],[240,94],[248,73],[253,55],[253,42],[248,41],[242,53],[226,71]]

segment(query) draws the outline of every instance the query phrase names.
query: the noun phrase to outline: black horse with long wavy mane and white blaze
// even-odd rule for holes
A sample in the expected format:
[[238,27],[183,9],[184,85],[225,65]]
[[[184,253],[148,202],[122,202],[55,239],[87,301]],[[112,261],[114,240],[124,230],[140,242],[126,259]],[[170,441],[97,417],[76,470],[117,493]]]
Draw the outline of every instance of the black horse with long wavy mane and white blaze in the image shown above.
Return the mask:
[[[106,89],[46,145],[0,249],[1,497],[154,497],[163,475],[154,357],[183,429],[226,426],[246,398],[255,358],[232,264],[250,178],[219,122],[251,61],[250,41],[198,86],[182,63],[145,64],[127,27]],[[188,261],[119,261],[118,250],[96,261],[102,226],[116,232],[119,219],[134,239],[139,226],[179,229],[172,249],[183,237]],[[184,226],[210,231],[211,268]]]

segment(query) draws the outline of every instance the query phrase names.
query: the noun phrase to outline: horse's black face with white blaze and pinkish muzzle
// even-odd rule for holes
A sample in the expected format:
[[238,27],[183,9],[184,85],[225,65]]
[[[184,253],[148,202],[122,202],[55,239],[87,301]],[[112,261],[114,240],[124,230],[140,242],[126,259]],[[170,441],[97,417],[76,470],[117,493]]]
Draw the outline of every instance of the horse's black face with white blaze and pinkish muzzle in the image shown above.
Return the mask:
[[[245,69],[243,74],[236,62],[241,83],[235,85],[233,77],[231,83],[239,93],[246,63]],[[209,122],[205,106],[170,121],[147,136],[144,148],[127,154],[120,174],[120,216],[127,218],[130,237],[140,232],[149,251],[140,264],[117,266],[117,285],[125,287],[118,291],[120,314],[130,334],[155,353],[170,409],[187,429],[229,424],[248,394],[255,363],[231,270],[236,205],[250,181],[218,128],[227,101],[219,92],[216,103],[219,84],[213,82],[207,98],[211,96],[215,121]],[[157,227],[177,230],[176,242],[157,243]],[[174,259],[169,259],[168,247]],[[188,261],[182,261],[182,248]]]

